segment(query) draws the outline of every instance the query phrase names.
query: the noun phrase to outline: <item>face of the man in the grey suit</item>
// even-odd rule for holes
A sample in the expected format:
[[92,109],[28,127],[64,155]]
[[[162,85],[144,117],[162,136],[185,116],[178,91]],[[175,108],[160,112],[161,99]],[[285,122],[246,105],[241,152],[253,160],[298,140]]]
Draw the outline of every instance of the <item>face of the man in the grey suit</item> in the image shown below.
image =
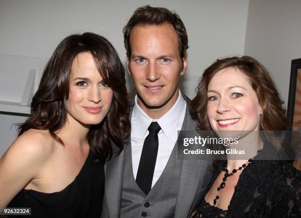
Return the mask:
[[187,67],[181,59],[176,31],[170,24],[137,25],[130,35],[127,70],[133,77],[139,106],[157,118],[168,112],[179,96],[180,76]]

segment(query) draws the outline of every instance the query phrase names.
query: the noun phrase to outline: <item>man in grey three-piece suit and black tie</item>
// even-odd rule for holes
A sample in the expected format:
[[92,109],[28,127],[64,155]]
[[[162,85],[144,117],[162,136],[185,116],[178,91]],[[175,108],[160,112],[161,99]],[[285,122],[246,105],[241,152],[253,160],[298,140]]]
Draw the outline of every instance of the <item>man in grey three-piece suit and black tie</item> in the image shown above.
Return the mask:
[[190,99],[181,93],[188,37],[176,13],[137,8],[123,29],[127,70],[137,95],[131,138],[106,164],[102,218],[185,218],[211,174],[205,160],[178,154],[178,130],[195,130]]

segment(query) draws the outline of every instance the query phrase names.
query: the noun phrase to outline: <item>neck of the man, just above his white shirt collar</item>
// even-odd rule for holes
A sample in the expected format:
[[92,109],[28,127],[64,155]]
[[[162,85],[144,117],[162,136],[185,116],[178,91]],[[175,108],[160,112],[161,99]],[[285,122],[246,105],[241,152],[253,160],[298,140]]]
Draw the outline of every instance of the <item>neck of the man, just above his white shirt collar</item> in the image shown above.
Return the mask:
[[149,106],[147,105],[138,95],[137,103],[140,108],[152,119],[160,119],[163,117],[177,102],[179,97],[179,88],[176,90],[175,94],[167,100],[166,103],[160,106]]

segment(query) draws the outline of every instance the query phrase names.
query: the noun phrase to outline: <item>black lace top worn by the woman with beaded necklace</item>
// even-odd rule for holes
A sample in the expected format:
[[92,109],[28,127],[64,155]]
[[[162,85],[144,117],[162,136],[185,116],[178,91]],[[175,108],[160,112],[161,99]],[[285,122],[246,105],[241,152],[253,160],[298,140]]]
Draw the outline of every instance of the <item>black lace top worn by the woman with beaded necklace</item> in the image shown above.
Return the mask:
[[[271,145],[241,172],[238,184],[224,211],[205,201],[196,207],[194,218],[301,218],[301,172],[284,160],[264,160],[275,152]],[[224,162],[212,177],[207,190],[219,175]]]

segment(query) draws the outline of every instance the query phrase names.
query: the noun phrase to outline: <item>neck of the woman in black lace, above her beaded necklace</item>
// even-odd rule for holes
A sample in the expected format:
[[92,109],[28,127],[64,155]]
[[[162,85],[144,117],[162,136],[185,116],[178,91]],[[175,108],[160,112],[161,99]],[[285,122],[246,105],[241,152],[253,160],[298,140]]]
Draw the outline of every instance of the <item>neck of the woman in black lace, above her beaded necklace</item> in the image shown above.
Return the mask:
[[[238,169],[242,164],[248,162],[248,159],[257,155],[257,151],[263,148],[263,141],[259,135],[259,131],[252,131],[248,135],[238,140],[237,145],[229,145],[226,149],[236,149],[244,151],[244,155],[227,155],[227,168],[229,172]],[[241,158],[242,157],[242,158]],[[239,159],[238,159],[239,158]]]

